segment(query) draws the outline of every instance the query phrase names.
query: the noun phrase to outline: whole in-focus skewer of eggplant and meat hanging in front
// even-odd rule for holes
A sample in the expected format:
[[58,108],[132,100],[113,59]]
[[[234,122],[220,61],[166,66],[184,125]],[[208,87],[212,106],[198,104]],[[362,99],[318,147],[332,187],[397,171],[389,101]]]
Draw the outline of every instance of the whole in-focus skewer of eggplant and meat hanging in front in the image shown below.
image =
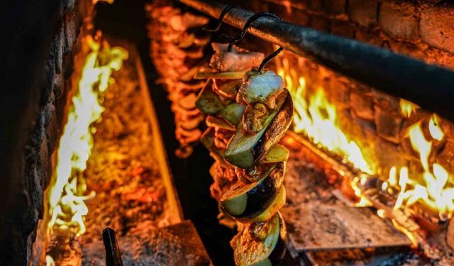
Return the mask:
[[211,195],[219,201],[221,223],[238,227],[231,241],[236,265],[275,265],[286,250],[279,209],[289,157],[277,143],[292,122],[292,98],[275,72],[251,70],[262,54],[213,47],[214,70],[196,74],[210,78],[196,105],[209,115],[201,143],[216,160]]

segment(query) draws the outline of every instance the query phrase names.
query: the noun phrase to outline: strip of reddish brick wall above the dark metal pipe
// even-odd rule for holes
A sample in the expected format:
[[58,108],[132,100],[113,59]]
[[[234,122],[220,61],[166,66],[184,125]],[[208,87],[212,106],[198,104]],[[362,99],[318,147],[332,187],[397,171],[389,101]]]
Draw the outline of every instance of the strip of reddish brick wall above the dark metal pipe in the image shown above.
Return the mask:
[[248,8],[454,68],[454,4],[445,2],[266,0],[251,1]]

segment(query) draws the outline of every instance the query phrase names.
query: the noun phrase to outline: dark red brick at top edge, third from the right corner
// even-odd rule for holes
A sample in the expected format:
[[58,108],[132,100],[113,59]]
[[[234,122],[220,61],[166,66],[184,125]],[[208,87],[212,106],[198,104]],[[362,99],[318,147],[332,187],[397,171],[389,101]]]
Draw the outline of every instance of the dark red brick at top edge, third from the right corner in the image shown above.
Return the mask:
[[359,26],[372,28],[377,25],[377,0],[348,1],[348,15]]

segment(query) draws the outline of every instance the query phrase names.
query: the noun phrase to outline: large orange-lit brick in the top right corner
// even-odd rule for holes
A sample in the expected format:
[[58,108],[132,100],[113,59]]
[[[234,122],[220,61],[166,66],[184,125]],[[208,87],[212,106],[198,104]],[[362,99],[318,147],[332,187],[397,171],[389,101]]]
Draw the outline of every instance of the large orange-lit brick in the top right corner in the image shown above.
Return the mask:
[[454,9],[430,6],[421,11],[421,39],[428,45],[454,52]]

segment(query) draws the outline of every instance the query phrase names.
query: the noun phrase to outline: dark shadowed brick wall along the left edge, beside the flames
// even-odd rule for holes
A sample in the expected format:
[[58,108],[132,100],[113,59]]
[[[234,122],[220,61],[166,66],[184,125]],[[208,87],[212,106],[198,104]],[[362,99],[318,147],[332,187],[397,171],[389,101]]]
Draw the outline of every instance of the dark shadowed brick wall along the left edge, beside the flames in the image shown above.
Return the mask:
[[9,136],[0,146],[4,162],[0,265],[31,262],[36,228],[45,209],[44,190],[52,175],[51,156],[64,123],[73,47],[81,12],[87,12],[81,11],[87,5],[76,0],[15,4],[11,13],[18,23],[11,19],[12,33],[5,33],[12,40],[10,58],[4,62],[9,68],[4,88],[10,93],[2,92],[1,99],[8,101],[0,107],[1,115],[10,118],[1,121],[2,134]]

